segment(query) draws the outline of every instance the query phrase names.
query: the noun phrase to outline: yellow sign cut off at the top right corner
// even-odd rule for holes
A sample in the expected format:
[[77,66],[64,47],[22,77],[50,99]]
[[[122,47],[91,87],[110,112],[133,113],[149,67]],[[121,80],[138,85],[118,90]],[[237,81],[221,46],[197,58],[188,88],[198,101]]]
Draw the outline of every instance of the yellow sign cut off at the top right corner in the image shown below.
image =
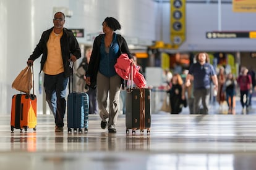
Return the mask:
[[255,0],[233,0],[233,12],[256,12]]

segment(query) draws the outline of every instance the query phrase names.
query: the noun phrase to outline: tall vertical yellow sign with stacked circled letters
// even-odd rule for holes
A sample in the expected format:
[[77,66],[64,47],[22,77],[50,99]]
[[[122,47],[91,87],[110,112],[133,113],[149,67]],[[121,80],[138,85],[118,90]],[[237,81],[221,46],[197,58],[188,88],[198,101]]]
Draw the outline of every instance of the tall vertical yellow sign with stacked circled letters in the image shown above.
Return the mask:
[[171,42],[180,46],[186,39],[186,0],[170,0]]

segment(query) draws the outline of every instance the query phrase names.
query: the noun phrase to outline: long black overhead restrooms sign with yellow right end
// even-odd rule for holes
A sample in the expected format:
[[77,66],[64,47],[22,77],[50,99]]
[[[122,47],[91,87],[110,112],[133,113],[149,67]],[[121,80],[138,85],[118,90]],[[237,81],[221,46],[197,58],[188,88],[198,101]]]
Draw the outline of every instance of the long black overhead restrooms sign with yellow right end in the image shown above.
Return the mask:
[[213,31],[206,33],[207,39],[217,39],[217,38],[256,38],[256,31]]

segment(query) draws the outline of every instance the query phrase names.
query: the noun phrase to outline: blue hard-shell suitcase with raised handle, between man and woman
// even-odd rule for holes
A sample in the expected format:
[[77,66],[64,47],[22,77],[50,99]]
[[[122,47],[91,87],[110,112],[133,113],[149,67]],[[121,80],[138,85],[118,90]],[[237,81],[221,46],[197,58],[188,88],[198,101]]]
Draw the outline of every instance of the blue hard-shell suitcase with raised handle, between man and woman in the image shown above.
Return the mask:
[[[74,69],[74,65],[72,65]],[[72,69],[72,70],[73,70]],[[70,92],[70,83],[72,81],[72,92]],[[89,96],[85,92],[73,92],[73,73],[72,80],[69,78],[69,95],[67,96],[67,132],[88,132],[89,119]]]

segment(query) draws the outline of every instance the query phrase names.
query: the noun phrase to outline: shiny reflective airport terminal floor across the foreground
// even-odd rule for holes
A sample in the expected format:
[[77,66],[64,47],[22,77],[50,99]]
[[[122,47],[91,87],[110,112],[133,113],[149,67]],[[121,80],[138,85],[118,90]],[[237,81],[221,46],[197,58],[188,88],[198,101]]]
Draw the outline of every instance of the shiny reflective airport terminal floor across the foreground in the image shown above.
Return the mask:
[[126,133],[119,115],[117,133],[89,116],[87,133],[54,132],[52,115],[38,115],[36,131],[11,133],[10,115],[0,116],[0,169],[255,169],[256,101],[246,115],[151,115],[151,132]]

